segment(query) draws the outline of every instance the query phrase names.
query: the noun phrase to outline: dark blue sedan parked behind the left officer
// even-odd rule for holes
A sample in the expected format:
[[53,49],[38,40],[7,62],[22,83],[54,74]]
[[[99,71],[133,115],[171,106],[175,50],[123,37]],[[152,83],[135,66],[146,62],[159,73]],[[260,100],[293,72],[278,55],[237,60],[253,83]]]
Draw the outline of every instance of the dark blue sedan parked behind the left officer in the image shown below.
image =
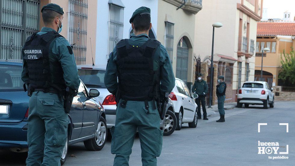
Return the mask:
[[[21,72],[22,62],[0,61],[0,148],[13,152],[28,151],[29,97],[23,90]],[[62,164],[66,160],[68,145],[84,142],[85,147],[92,151],[101,150],[105,145],[107,123],[104,108],[95,99],[99,92],[90,91],[81,81],[69,114],[71,123],[61,156]]]

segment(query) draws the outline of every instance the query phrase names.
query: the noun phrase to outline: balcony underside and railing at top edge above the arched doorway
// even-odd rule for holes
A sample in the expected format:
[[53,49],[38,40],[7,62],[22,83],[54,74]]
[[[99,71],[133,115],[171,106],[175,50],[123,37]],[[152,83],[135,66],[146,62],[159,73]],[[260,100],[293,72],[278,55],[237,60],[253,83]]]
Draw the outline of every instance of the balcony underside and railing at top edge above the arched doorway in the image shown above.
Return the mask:
[[190,11],[191,13],[197,14],[202,8],[202,0],[164,0],[169,2],[178,8]]

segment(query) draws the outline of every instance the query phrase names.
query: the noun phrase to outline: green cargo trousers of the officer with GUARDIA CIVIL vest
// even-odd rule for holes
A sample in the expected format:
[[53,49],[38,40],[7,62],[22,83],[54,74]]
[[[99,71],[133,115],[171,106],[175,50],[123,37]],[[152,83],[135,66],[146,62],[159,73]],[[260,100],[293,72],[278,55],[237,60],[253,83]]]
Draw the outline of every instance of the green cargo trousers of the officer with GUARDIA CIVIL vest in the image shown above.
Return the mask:
[[33,92],[29,101],[27,166],[59,166],[70,123],[57,94]]

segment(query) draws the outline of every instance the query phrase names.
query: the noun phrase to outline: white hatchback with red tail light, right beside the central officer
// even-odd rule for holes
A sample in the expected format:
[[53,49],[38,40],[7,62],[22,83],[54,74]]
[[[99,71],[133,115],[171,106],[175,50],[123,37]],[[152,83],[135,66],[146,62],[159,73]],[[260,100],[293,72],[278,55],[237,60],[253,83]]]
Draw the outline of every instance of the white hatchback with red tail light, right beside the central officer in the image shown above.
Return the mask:
[[189,127],[197,127],[197,104],[195,98],[198,98],[197,94],[193,94],[185,83],[175,78],[175,87],[169,95],[173,102],[175,115],[177,118],[176,130],[180,130],[182,123],[188,123]]

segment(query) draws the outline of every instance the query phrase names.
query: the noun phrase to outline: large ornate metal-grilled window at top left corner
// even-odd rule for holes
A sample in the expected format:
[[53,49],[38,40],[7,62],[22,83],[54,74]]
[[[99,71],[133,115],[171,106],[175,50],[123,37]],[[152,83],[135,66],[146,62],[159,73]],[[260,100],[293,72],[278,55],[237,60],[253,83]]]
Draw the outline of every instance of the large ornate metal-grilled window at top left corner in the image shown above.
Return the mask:
[[26,38],[39,31],[40,0],[1,0],[0,19],[0,59],[22,59]]

